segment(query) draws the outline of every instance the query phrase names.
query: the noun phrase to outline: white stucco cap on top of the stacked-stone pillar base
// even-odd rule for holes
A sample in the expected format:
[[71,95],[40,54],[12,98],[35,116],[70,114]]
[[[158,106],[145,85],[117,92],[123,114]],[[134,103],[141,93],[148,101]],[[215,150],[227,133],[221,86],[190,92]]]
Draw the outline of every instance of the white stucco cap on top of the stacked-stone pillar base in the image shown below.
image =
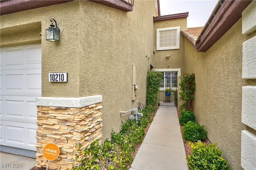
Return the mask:
[[50,107],[74,107],[81,108],[102,102],[102,95],[89,97],[68,98],[68,97],[38,97],[36,98],[37,106]]

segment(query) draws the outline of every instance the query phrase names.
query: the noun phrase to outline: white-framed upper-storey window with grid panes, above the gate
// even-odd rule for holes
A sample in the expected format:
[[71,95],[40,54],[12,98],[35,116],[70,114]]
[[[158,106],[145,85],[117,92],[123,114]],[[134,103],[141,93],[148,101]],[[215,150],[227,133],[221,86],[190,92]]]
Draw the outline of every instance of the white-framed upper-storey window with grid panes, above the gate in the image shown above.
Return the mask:
[[180,27],[156,29],[156,50],[180,49]]

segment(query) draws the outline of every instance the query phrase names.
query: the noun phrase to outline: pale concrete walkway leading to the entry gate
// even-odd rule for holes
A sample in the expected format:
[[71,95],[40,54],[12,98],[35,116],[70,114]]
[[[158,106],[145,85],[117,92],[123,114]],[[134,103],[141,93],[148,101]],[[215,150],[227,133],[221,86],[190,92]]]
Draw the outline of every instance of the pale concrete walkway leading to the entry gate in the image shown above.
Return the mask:
[[130,170],[188,170],[176,107],[159,107]]

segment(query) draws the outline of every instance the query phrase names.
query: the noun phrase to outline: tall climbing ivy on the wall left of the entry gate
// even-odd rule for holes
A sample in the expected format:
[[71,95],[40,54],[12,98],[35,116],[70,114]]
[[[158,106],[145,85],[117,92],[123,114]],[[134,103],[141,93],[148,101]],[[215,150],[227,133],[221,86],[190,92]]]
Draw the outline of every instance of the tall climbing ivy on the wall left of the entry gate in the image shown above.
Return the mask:
[[148,71],[146,106],[154,107],[158,103],[158,91],[163,74],[158,71]]

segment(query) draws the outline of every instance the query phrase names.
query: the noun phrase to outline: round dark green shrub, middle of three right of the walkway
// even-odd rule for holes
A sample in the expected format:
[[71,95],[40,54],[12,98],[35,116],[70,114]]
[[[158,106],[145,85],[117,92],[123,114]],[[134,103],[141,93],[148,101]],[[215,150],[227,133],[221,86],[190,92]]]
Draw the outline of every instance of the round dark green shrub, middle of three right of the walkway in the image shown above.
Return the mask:
[[205,140],[207,136],[207,131],[204,126],[199,125],[197,122],[189,121],[183,127],[184,139],[197,142],[198,140]]

